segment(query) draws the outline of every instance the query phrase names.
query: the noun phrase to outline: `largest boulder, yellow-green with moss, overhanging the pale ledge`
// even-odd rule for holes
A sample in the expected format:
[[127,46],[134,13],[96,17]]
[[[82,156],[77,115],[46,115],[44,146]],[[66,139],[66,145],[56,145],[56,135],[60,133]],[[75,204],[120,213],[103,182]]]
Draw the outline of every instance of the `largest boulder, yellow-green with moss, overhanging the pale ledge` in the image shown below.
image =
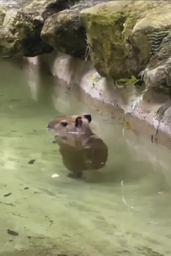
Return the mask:
[[81,11],[80,20],[96,70],[121,79],[146,67],[148,35],[171,27],[171,1],[110,1]]

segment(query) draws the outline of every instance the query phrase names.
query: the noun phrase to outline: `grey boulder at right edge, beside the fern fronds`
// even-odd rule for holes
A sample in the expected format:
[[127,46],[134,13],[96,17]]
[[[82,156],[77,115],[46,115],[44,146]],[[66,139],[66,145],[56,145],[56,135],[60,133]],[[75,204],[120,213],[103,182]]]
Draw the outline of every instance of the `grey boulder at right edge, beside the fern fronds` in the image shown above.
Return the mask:
[[171,33],[147,64],[144,82],[148,90],[171,96]]

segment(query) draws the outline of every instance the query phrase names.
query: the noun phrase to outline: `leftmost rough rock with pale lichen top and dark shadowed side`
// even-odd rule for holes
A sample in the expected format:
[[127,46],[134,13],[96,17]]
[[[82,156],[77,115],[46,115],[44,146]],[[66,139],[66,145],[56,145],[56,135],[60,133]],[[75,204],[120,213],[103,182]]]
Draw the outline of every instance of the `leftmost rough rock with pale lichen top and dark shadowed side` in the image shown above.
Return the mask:
[[34,57],[51,52],[53,48],[40,38],[42,26],[38,11],[26,14],[0,8],[0,56]]

